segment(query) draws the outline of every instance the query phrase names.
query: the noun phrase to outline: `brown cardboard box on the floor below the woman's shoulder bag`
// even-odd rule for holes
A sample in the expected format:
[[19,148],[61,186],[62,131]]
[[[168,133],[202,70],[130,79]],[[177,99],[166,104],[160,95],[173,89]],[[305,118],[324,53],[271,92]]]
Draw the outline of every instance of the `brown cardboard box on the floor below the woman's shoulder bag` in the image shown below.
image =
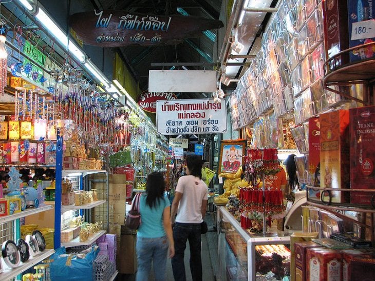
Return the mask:
[[137,271],[136,239],[136,235],[121,235],[116,258],[117,269],[121,274],[134,274]]

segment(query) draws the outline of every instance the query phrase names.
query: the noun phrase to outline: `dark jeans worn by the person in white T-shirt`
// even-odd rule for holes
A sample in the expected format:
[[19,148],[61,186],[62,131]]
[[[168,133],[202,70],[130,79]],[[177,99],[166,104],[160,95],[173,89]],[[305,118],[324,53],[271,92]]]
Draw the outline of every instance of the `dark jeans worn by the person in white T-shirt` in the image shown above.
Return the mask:
[[200,257],[200,224],[176,223],[173,227],[173,239],[175,240],[175,255],[172,258],[172,269],[175,281],[185,281],[185,265],[183,262],[186,241],[190,246],[190,271],[193,281],[202,280],[202,260]]

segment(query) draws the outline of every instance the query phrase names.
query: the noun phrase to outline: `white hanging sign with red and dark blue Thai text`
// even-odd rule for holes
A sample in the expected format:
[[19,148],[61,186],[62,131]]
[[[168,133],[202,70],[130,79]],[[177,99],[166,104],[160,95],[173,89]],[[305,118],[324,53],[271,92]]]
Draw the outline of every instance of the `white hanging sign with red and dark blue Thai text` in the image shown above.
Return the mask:
[[227,131],[227,110],[222,99],[182,99],[156,102],[156,125],[162,135],[209,134]]

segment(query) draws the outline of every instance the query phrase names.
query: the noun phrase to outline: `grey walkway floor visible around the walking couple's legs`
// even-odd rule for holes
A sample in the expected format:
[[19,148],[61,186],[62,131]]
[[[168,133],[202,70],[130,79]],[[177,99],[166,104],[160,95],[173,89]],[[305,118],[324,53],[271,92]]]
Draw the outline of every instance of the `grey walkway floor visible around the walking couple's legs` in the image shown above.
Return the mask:
[[[204,281],[215,281],[216,273],[218,272],[218,249],[217,249],[217,233],[213,229],[214,224],[214,213],[208,213],[205,217],[209,231],[202,235],[202,268],[203,268],[203,280]],[[186,280],[191,281],[192,276],[190,273],[189,266],[190,250],[189,245],[186,245],[185,250],[185,272]],[[135,274],[120,274],[117,276],[118,281],[134,281],[136,278]],[[154,280],[153,276],[150,276],[149,280]],[[173,281],[173,271],[171,259],[166,262],[166,281]],[[146,281],[146,280],[145,280]]]

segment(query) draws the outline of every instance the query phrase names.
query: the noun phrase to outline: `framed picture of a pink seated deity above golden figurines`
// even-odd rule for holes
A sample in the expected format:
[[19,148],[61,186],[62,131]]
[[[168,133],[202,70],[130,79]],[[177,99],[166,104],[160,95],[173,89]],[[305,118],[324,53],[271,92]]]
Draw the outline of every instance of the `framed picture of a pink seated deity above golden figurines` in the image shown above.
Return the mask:
[[246,144],[246,139],[221,141],[218,174],[238,171],[246,155]]

